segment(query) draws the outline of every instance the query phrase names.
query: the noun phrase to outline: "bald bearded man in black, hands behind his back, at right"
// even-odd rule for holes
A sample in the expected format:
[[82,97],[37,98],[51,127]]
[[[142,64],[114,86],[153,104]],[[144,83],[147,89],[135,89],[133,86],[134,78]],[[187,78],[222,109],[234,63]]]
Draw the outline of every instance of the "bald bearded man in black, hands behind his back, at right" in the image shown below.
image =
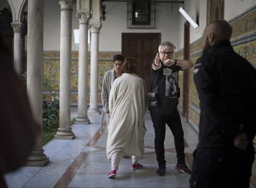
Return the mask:
[[194,67],[200,99],[199,141],[190,187],[249,187],[256,116],[256,70],[234,52],[232,28],[216,20],[203,31]]

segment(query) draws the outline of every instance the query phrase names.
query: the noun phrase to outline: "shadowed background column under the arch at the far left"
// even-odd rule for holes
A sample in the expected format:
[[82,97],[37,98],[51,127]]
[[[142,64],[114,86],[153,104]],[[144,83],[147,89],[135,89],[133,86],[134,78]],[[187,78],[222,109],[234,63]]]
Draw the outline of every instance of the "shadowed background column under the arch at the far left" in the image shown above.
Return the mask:
[[12,28],[14,29],[14,69],[15,72],[20,76],[22,65],[22,23],[19,21],[12,22]]

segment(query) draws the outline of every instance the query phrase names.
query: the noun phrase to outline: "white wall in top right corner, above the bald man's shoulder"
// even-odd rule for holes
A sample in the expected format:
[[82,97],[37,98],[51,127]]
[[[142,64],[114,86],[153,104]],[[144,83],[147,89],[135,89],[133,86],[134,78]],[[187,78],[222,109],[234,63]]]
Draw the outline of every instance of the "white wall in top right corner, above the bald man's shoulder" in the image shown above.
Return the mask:
[[225,0],[224,18],[229,21],[237,15],[256,5],[256,0]]

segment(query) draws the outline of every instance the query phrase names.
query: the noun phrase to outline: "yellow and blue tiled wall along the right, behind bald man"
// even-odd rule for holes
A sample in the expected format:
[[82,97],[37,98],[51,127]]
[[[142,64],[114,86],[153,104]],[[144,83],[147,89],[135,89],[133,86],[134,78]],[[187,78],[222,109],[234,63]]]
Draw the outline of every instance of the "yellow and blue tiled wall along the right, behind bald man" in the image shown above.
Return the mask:
[[[241,55],[256,68],[256,6],[247,10],[241,15],[229,20],[233,28],[233,35],[231,38],[231,44],[234,51]],[[190,60],[196,62],[196,60],[202,55],[203,39],[198,39],[194,43],[190,44]],[[177,59],[182,58],[182,51],[177,54]],[[189,81],[189,122],[195,129],[198,130],[200,108],[197,91],[195,89],[193,68],[190,70]],[[180,80],[181,81],[181,80]],[[180,86],[182,83],[179,83]],[[179,99],[182,104],[182,97]],[[182,105],[179,106],[182,108]],[[254,139],[256,143],[256,139]],[[235,165],[235,164],[234,164]],[[256,186],[256,162],[254,162],[252,169],[251,182]]]

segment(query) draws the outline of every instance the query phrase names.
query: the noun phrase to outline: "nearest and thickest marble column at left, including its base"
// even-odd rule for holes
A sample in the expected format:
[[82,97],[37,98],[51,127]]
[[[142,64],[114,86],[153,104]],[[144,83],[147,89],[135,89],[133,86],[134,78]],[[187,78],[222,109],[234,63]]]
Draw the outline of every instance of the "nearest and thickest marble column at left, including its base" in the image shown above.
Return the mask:
[[[27,92],[35,120],[43,131],[43,0],[28,0]],[[42,133],[42,132],[41,132]],[[49,161],[40,134],[28,166],[45,166]]]

